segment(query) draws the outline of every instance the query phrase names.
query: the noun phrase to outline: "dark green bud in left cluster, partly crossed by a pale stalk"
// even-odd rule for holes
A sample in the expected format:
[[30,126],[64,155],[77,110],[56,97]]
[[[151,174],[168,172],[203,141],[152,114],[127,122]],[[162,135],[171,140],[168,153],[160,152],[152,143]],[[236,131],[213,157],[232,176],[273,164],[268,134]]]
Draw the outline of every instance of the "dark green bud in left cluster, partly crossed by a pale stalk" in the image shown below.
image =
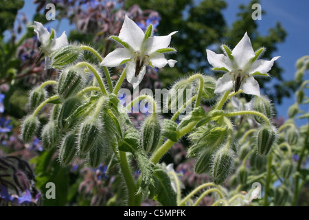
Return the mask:
[[59,115],[58,115],[58,128],[59,129],[70,129],[79,118],[73,118],[67,121],[66,119],[82,104],[82,100],[78,97],[71,97],[65,100],[62,104]]

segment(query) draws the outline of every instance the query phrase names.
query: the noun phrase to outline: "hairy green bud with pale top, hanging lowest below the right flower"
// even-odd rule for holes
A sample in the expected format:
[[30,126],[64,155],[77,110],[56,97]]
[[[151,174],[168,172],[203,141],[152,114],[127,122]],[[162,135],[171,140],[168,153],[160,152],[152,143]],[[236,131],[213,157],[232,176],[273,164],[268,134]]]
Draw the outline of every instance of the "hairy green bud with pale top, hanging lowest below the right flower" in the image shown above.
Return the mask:
[[214,166],[212,170],[214,184],[222,184],[229,176],[232,166],[233,153],[227,146],[223,146],[214,156]]

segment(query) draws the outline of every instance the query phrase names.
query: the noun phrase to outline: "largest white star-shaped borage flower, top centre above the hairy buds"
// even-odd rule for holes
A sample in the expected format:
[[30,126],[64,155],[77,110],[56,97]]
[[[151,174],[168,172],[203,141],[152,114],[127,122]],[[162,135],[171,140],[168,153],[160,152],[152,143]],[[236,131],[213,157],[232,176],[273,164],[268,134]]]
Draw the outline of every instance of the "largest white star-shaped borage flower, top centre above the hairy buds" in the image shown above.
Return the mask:
[[124,47],[117,48],[109,53],[101,65],[105,67],[117,67],[126,63],[126,78],[133,88],[137,87],[146,73],[146,65],[162,68],[165,65],[174,67],[177,61],[167,60],[164,53],[176,52],[169,47],[172,32],[167,36],[152,36],[152,25],[144,33],[139,26],[129,19],[124,19],[119,36],[111,36]]

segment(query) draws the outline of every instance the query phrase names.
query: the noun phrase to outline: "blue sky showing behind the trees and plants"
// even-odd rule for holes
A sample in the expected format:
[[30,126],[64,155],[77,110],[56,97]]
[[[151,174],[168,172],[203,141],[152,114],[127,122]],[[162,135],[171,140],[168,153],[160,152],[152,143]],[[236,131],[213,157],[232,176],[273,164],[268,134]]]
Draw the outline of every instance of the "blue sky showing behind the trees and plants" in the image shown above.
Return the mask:
[[[227,0],[228,7],[223,11],[225,20],[231,25],[236,20],[236,14],[239,12],[240,3],[247,4],[249,0]],[[286,80],[293,80],[295,74],[295,62],[301,56],[309,55],[309,1],[308,0],[261,0],[262,10],[266,14],[262,15],[262,20],[258,22],[260,34],[266,35],[269,28],[275,26],[279,21],[288,35],[284,43],[277,45],[277,52],[273,56],[281,56],[276,62],[284,69],[283,77]],[[26,0],[25,6],[21,10],[27,14],[31,20],[35,12],[35,6],[32,0]],[[50,24],[51,28],[56,28],[56,23]],[[53,26],[54,25],[54,26]],[[71,27],[70,27],[71,28]],[[61,21],[58,33],[62,31],[69,32],[69,22]],[[305,79],[309,79],[308,73]],[[307,93],[309,96],[309,92]],[[290,104],[295,102],[295,97],[285,98],[281,105],[277,105],[278,116],[287,118],[287,111]],[[308,106],[301,106],[301,109],[308,111]],[[306,124],[307,120],[297,120],[297,124]]]

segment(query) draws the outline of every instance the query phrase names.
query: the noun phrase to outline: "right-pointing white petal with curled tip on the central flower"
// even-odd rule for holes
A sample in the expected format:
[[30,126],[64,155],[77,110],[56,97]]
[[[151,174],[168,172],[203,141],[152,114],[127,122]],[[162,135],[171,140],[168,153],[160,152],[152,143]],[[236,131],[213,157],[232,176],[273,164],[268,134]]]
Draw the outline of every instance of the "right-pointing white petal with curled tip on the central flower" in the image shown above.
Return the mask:
[[172,32],[166,36],[153,36],[146,40],[144,43],[144,51],[150,55],[159,49],[168,48],[172,35],[176,32]]

